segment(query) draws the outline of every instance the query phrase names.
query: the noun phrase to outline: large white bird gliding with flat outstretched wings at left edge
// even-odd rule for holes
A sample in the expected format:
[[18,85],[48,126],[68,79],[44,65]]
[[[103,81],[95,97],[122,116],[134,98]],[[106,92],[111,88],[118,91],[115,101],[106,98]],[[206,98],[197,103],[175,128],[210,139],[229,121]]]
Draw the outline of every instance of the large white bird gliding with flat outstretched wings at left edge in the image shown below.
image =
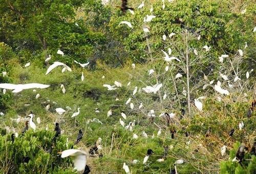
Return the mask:
[[28,84],[11,84],[11,83],[0,83],[0,88],[13,90],[13,93],[18,93],[23,90],[39,88],[45,89],[48,88],[50,85],[47,84],[40,84],[40,83],[28,83]]

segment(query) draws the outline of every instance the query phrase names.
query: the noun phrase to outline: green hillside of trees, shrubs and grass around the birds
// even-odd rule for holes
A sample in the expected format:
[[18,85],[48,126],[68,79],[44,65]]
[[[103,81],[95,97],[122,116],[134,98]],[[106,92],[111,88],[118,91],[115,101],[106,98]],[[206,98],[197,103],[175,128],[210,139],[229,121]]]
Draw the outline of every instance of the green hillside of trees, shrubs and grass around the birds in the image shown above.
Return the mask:
[[[72,161],[61,159],[58,153],[72,145],[88,152],[100,137],[102,149],[99,154],[103,157],[88,156],[87,164],[92,173],[124,173],[123,163],[129,166],[131,173],[169,173],[178,159],[184,160],[177,165],[179,173],[254,173],[255,156],[247,153],[242,164],[232,159],[241,144],[252,147],[255,141],[255,111],[249,117],[247,114],[256,95],[255,70],[251,70],[255,67],[255,8],[244,3],[240,10],[233,11],[229,9],[230,2],[221,2],[166,1],[164,9],[161,1],[152,2],[152,13],[151,4],[145,2],[141,10],[136,8],[135,15],[123,14],[114,8],[118,2],[103,6],[97,1],[83,4],[68,1],[65,5],[56,1],[49,4],[51,8],[58,6],[56,11],[51,11],[53,14],[45,10],[48,6],[38,6],[40,2],[28,6],[18,1],[13,1],[11,6],[1,2],[5,15],[0,23],[3,29],[0,71],[7,72],[7,75],[1,74],[1,83],[50,84],[47,89],[24,90],[17,94],[10,90],[4,94],[2,89],[1,172],[74,173]],[[137,7],[138,2],[131,1],[130,5]],[[70,11],[63,11],[66,6]],[[18,10],[11,10],[12,7]],[[33,14],[23,14],[24,8],[35,10]],[[241,14],[244,9],[246,12]],[[17,11],[26,17],[17,18]],[[35,17],[43,14],[58,23],[49,25],[52,31],[38,37],[40,25],[48,22]],[[143,18],[150,14],[156,18],[144,23]],[[182,20],[184,27],[174,24],[176,19],[178,23]],[[133,29],[119,25],[122,20],[130,21]],[[143,32],[145,27],[150,33]],[[25,34],[24,29],[27,29]],[[176,35],[168,38],[172,32]],[[167,36],[166,40],[163,35]],[[44,45],[44,39],[48,44]],[[206,51],[205,45],[211,49]],[[180,62],[164,60],[161,50],[168,52],[168,48],[172,49],[169,56],[177,57]],[[65,53],[64,56],[56,54],[58,49]],[[46,63],[48,54],[52,58]],[[220,61],[219,57],[224,54],[228,57]],[[73,60],[82,63],[89,60],[90,66],[81,68]],[[61,68],[56,68],[45,75],[54,61],[67,63],[72,72],[61,73]],[[31,65],[25,68],[27,62]],[[150,69],[154,70],[151,75],[148,74]],[[82,72],[84,81],[81,81]],[[182,77],[176,78],[178,73]],[[223,75],[227,75],[228,80]],[[240,80],[234,81],[237,77]],[[229,95],[214,89],[218,80]],[[122,84],[116,90],[108,91],[103,86],[114,85],[115,81]],[[162,83],[159,92],[143,90],[157,83]],[[61,84],[65,86],[65,94]],[[136,86],[137,93],[133,94]],[[36,99],[37,94],[40,97]],[[194,99],[199,97],[202,97],[199,99],[203,103],[202,111],[195,106]],[[129,98],[131,102],[125,104]],[[143,106],[139,108],[141,103]],[[49,110],[46,110],[47,105],[50,105]],[[67,112],[59,116],[55,112],[57,107]],[[78,107],[80,114],[76,119],[71,118]],[[112,115],[108,116],[110,110]],[[29,128],[22,136],[23,118],[31,111],[35,115],[36,132]],[[165,112],[175,116],[166,120]],[[121,113],[127,118],[123,119]],[[36,121],[38,117],[40,123]],[[135,120],[133,131],[121,126],[120,118],[125,126]],[[60,124],[62,134],[49,153],[55,122]],[[244,127],[240,129],[241,122]],[[211,131],[206,136],[209,127]],[[229,136],[232,128],[234,134]],[[83,138],[74,145],[79,129],[82,129]],[[161,134],[157,136],[160,129]],[[143,137],[143,131],[147,138]],[[12,133],[18,133],[14,142]],[[133,138],[134,134],[137,139]],[[227,150],[222,156],[224,145]],[[166,147],[168,153],[164,155]],[[143,164],[149,148],[154,154]],[[163,162],[157,161],[162,158]],[[138,162],[135,164],[133,160]]]

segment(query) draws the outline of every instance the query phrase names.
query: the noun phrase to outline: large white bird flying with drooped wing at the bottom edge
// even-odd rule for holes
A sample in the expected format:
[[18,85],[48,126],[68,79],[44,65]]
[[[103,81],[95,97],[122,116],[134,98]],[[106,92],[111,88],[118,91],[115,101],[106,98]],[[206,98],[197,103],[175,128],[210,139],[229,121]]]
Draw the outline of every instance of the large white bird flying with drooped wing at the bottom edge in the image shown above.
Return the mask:
[[77,171],[82,171],[86,167],[87,155],[84,151],[78,149],[68,149],[61,152],[61,158],[74,157],[73,163]]

